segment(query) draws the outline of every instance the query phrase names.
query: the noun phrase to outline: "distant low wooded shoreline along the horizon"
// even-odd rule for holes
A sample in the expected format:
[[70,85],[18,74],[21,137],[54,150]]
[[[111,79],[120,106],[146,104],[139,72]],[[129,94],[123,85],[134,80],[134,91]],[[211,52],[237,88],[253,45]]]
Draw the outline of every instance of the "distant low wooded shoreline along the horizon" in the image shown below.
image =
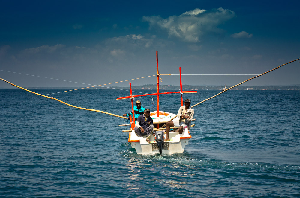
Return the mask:
[[[230,88],[232,85],[226,86],[226,88]],[[84,87],[27,87],[26,89],[80,89]],[[222,90],[224,86],[194,86],[194,85],[183,85],[183,90]],[[0,89],[19,89],[19,88],[1,88]],[[87,89],[129,89],[129,87],[92,87]],[[132,86],[132,89],[136,90],[157,90],[157,85],[141,85],[141,86]],[[173,86],[173,85],[161,85],[159,87],[160,90],[180,90],[180,86]],[[231,90],[300,90],[299,85],[283,85],[283,86],[236,86]]]

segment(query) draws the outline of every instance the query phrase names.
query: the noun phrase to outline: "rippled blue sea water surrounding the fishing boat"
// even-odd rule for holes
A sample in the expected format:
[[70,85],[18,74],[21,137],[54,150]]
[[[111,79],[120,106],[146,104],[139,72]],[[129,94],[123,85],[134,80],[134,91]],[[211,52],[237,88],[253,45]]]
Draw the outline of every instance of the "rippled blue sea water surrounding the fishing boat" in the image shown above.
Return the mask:
[[[193,105],[217,93],[184,98]],[[49,96],[122,115],[131,111],[130,100],[116,98],[128,95]],[[151,107],[150,96],[135,100]],[[162,111],[180,107],[178,94],[159,101]],[[128,127],[118,126],[125,119],[0,89],[0,197],[300,197],[299,105],[299,91],[230,90],[194,107],[184,153],[144,156],[128,143]]]

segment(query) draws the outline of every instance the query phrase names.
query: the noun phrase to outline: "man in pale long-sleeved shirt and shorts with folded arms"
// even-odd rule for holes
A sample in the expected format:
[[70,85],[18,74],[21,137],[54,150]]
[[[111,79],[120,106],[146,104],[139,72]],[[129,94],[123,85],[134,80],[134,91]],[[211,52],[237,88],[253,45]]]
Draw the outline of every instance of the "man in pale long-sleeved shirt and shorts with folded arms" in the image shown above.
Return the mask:
[[179,117],[179,121],[169,121],[166,123],[166,139],[165,141],[169,141],[169,133],[170,127],[179,127],[179,134],[182,134],[183,130],[187,128],[190,130],[190,125],[192,119],[194,117],[194,109],[190,108],[190,99],[186,99],[184,101],[184,106],[181,106],[178,110],[177,116]]

